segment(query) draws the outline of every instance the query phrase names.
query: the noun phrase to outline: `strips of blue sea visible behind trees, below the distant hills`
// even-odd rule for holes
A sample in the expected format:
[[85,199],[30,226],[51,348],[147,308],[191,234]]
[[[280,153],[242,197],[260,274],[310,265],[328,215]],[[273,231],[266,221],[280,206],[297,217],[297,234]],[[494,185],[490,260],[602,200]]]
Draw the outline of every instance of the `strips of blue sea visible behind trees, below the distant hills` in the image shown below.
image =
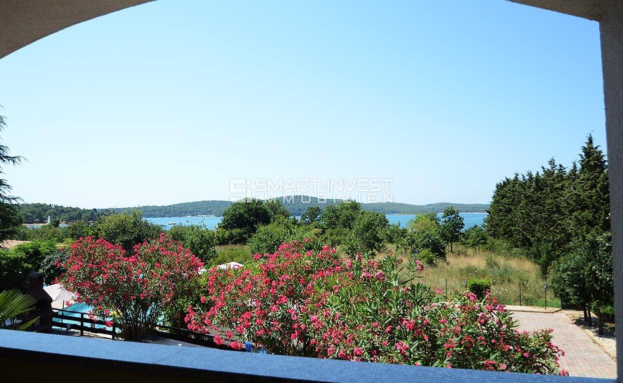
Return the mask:
[[[308,207],[325,207],[338,204],[341,200],[329,199],[326,202],[318,202],[316,197],[293,196],[285,197],[284,205],[292,215],[301,215]],[[283,202],[282,199],[280,201]],[[225,209],[230,206],[229,201],[197,201],[183,202],[181,204],[167,206],[138,206],[121,207],[115,209],[117,212],[128,211],[130,209],[142,210],[145,217],[185,217],[186,215],[223,215]],[[454,206],[459,212],[485,212],[488,204],[453,204],[451,202],[437,202],[427,205],[401,204],[399,202],[374,202],[361,204],[363,210],[381,212],[383,214],[414,214],[424,212],[444,211],[447,206]]]

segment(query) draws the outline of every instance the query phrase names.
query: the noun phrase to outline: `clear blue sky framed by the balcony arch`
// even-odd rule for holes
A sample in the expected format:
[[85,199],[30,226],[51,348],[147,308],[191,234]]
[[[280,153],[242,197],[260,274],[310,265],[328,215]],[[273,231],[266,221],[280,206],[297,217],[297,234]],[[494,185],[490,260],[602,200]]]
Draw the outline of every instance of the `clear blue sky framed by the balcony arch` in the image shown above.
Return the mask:
[[0,59],[0,105],[14,194],[88,208],[240,177],[488,202],[606,144],[597,23],[502,0],[159,0]]

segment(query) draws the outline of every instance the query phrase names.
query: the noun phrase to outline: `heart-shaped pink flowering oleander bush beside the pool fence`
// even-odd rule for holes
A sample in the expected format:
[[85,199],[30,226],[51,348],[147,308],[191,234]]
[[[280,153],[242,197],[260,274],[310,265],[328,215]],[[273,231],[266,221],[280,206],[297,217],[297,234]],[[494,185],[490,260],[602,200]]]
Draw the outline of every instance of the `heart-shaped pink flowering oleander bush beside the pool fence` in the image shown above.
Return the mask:
[[[164,313],[193,295],[203,263],[180,242],[161,234],[135,245],[127,255],[118,245],[86,237],[72,244],[59,282],[93,306],[90,317],[112,317],[126,339],[145,336]],[[112,326],[108,321],[107,326]]]

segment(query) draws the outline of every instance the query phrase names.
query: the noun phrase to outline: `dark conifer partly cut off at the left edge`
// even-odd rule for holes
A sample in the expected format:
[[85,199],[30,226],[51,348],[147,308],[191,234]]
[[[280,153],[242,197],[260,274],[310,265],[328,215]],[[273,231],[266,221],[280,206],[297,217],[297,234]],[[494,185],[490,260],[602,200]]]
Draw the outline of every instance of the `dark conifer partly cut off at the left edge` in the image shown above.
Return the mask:
[[[0,132],[6,128],[6,118],[0,116]],[[4,166],[17,165],[22,162],[21,156],[11,156],[9,148],[0,144],[0,176],[4,174]],[[19,198],[11,196],[11,186],[6,179],[0,178],[0,242],[11,239],[22,224],[17,202]]]

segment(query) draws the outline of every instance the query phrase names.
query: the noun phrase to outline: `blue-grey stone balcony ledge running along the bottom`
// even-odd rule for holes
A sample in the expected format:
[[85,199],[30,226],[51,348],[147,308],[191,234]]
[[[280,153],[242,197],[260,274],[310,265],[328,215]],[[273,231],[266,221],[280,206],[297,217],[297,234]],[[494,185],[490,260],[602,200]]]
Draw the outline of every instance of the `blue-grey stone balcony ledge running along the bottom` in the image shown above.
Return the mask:
[[0,330],[2,375],[11,382],[88,379],[89,382],[453,382],[614,383],[436,367],[399,366],[210,348],[76,338]]

